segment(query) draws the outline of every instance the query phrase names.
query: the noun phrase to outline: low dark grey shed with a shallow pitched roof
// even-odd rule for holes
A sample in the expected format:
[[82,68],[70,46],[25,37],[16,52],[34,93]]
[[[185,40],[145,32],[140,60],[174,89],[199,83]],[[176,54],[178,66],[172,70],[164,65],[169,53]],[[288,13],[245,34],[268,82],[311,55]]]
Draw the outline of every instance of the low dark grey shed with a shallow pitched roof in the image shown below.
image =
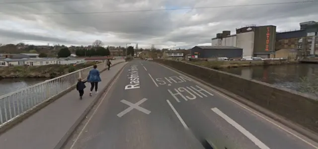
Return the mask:
[[243,49],[233,46],[195,46],[191,49],[191,55],[196,58],[237,58],[242,57],[242,54]]

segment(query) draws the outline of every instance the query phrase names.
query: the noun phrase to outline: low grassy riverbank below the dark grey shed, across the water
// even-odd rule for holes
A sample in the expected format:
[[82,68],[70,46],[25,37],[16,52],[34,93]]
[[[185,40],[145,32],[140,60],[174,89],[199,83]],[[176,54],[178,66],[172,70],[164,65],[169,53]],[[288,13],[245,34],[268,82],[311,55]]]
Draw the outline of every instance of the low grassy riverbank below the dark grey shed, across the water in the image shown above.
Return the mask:
[[222,68],[237,68],[250,66],[265,66],[265,65],[281,65],[281,64],[296,64],[298,62],[290,62],[287,60],[235,60],[235,61],[195,61],[191,62],[195,65],[208,67],[212,69]]

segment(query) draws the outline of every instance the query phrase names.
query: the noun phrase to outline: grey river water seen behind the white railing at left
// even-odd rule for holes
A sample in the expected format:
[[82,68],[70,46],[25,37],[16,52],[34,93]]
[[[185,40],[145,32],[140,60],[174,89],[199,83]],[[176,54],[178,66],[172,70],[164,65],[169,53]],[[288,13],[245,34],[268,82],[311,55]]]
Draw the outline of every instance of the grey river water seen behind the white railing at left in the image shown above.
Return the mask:
[[43,82],[45,80],[46,79],[43,79],[43,78],[1,79],[0,80],[0,96]]

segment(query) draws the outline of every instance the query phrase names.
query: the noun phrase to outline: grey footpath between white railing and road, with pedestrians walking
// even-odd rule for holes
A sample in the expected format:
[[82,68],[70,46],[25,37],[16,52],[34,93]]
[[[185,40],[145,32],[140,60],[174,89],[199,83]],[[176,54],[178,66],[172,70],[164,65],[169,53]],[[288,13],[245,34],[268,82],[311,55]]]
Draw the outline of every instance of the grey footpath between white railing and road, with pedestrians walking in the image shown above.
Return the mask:
[[102,82],[98,84],[97,95],[93,91],[92,97],[89,97],[90,84],[86,83],[82,100],[79,100],[79,93],[75,89],[3,133],[0,136],[0,149],[59,149],[126,63],[118,63],[110,71],[101,73]]

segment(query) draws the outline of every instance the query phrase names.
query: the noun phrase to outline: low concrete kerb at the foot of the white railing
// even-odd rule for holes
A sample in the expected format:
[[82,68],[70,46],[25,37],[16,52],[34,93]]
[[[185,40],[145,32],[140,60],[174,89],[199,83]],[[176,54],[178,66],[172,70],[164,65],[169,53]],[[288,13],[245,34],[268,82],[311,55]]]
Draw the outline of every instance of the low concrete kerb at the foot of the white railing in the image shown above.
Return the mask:
[[[124,61],[118,62],[113,64],[117,65],[119,63],[122,63]],[[111,66],[111,67],[112,67]],[[100,72],[105,71],[107,68],[101,70]],[[31,115],[33,115],[34,113],[36,113],[37,111],[39,111],[40,109],[46,107],[47,105],[49,105],[50,103],[52,103],[53,101],[60,99],[62,96],[64,96],[65,94],[71,92],[72,90],[74,90],[76,88],[76,85],[69,87],[68,89],[66,89],[65,91],[61,92],[60,94],[57,94],[49,99],[47,99],[46,101],[38,104],[37,106],[29,109],[28,111],[26,111],[25,113],[21,114],[20,116],[12,119],[9,123],[6,123],[5,125],[3,125],[2,127],[0,127],[0,135],[3,134],[4,132],[6,132],[7,130],[11,129],[12,127],[16,126],[17,124],[19,124],[20,122],[22,122],[23,120],[25,120],[26,118],[30,117]]]

